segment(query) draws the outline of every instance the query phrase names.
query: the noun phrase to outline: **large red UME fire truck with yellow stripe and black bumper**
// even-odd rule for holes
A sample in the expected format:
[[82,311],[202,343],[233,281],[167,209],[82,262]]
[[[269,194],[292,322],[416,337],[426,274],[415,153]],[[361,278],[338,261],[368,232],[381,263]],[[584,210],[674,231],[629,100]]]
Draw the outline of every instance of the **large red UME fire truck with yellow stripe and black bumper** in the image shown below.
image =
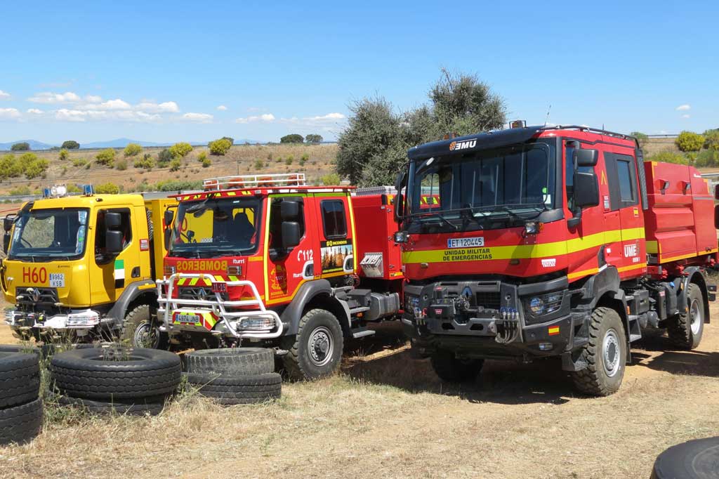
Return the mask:
[[440,378],[559,355],[581,391],[603,396],[642,329],[699,345],[718,246],[715,196],[695,168],[645,163],[633,137],[574,126],[454,137],[408,157],[402,322]]

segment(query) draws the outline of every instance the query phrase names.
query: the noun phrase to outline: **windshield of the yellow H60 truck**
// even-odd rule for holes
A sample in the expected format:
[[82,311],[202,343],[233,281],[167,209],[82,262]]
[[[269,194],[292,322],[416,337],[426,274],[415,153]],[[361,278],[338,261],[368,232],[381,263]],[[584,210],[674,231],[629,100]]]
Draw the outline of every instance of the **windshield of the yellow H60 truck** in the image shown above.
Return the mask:
[[9,259],[46,261],[78,259],[85,253],[88,209],[22,211],[12,235]]

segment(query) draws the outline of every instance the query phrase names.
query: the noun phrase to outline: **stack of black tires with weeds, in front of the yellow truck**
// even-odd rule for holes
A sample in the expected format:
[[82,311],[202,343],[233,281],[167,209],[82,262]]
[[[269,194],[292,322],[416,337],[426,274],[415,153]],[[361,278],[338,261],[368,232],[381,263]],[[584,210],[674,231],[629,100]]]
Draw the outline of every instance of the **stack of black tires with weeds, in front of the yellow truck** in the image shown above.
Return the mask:
[[144,348],[88,347],[50,360],[58,402],[93,414],[160,414],[182,378],[180,357]]

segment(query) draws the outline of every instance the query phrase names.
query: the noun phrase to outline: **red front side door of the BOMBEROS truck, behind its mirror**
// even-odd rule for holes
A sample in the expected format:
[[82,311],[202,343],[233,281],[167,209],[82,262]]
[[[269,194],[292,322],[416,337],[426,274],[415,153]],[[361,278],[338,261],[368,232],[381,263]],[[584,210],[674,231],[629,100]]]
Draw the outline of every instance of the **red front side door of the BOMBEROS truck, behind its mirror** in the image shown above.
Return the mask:
[[[282,246],[282,202],[297,201],[298,216],[285,221],[300,225],[300,244],[290,250]],[[267,248],[265,249],[265,303],[278,304],[290,301],[306,280],[314,278],[315,258],[319,253],[316,229],[308,228],[307,215],[311,214],[312,199],[306,196],[273,195],[267,199]],[[309,211],[308,211],[309,210]]]

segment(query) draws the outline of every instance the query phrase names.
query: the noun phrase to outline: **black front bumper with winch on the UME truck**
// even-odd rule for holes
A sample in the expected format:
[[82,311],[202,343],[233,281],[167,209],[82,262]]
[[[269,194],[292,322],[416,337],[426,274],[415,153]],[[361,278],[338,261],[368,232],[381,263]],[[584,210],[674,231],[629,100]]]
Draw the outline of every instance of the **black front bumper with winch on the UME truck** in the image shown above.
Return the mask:
[[[420,350],[445,349],[467,357],[551,356],[571,350],[574,323],[567,278],[516,285],[453,281],[405,287],[405,334]],[[528,311],[530,298],[560,294],[550,314]]]

